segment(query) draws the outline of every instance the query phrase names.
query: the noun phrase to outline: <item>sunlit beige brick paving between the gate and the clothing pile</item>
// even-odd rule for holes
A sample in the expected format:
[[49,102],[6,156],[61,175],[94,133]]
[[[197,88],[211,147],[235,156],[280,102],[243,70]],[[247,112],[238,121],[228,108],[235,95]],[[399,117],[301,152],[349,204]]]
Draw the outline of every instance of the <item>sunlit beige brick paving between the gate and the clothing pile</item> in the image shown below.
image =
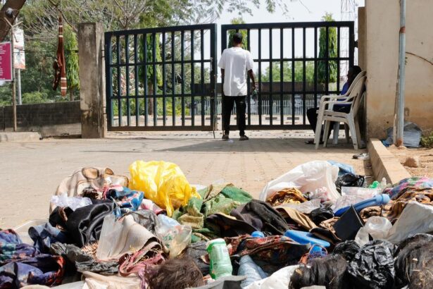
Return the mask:
[[304,144],[313,137],[306,131],[249,132],[249,136],[247,142],[237,138],[223,142],[220,133],[217,139],[207,132],[110,133],[103,140],[1,143],[0,228],[46,218],[58,183],[81,166],[108,166],[129,175],[128,166],[137,159],[172,161],[190,183],[208,185],[224,179],[254,196],[269,180],[315,159],[345,162],[365,174],[363,162],[351,159],[355,151],[344,140],[315,151]]

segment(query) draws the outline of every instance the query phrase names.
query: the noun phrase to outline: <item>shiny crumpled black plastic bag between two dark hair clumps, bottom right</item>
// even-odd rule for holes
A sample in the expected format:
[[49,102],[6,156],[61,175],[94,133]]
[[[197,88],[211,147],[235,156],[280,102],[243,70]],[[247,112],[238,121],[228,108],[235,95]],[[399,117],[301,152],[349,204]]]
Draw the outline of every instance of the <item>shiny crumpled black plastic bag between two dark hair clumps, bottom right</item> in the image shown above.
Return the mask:
[[393,288],[393,253],[394,245],[386,240],[375,240],[363,246],[347,267],[353,288]]

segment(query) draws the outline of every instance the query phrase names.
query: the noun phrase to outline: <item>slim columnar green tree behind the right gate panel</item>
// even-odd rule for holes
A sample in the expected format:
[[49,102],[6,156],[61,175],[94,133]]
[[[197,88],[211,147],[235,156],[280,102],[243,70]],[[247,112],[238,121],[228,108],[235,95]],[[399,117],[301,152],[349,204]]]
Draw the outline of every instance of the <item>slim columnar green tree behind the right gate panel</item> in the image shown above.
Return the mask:
[[[335,21],[332,18],[332,13],[325,13],[325,16],[322,17],[322,21]],[[320,28],[320,37],[319,37],[319,57],[337,57],[337,28],[330,27],[328,30],[328,51],[329,55],[326,55],[326,28]],[[329,82],[337,82],[337,61],[328,61],[328,75]],[[318,61],[318,82],[325,83],[326,82],[326,61]]]

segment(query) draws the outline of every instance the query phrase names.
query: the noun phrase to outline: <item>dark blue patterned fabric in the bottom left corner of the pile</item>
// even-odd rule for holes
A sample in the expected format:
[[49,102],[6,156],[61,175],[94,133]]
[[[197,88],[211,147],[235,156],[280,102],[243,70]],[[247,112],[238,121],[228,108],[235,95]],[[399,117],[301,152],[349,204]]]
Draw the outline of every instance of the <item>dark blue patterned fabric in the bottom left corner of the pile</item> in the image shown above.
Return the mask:
[[15,231],[0,231],[0,289],[58,285],[64,267],[63,257],[40,254],[35,247],[23,244]]

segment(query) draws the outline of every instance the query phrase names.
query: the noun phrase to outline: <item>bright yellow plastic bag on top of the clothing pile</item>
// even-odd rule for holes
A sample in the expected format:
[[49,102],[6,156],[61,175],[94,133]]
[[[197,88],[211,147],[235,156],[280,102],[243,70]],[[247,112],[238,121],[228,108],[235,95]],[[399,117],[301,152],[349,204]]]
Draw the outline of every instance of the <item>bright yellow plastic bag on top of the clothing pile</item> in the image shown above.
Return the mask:
[[172,216],[175,209],[200,195],[189,185],[179,166],[165,161],[134,161],[130,165],[130,189],[144,192],[159,207]]

